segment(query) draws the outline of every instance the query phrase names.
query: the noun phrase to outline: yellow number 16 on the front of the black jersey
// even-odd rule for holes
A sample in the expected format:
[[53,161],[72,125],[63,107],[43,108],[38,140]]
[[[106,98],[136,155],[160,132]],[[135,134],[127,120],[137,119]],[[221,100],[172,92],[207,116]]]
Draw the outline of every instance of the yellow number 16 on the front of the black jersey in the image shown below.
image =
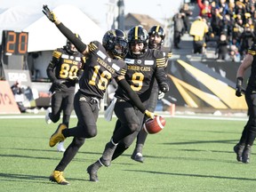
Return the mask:
[[[96,80],[97,80],[97,76],[99,74],[99,69],[100,66],[95,66],[94,67],[94,71],[93,71],[93,75],[92,75],[92,79],[89,81],[89,84],[92,85],[96,85]],[[97,86],[99,87],[100,90],[106,90],[107,86],[108,86],[108,81],[109,79],[111,79],[111,74],[105,70],[100,74],[100,79],[99,79],[99,83],[97,84]]]

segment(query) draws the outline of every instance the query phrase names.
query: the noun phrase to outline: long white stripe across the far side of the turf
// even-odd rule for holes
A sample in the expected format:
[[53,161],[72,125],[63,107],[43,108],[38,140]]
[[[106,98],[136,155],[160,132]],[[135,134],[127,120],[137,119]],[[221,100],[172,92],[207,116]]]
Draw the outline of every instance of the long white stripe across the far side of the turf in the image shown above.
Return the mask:
[[[165,118],[188,118],[188,119],[212,119],[212,120],[227,120],[227,121],[247,121],[248,117],[221,117],[221,116],[171,116],[171,115],[161,115]],[[44,118],[45,116],[40,116],[40,115],[33,115],[33,116],[1,116],[0,119],[20,119],[20,118],[33,118],[33,119],[38,119],[38,118]],[[100,118],[104,118],[104,115],[99,116]],[[116,115],[113,117],[116,117]],[[61,116],[62,118],[62,116]],[[72,115],[71,118],[77,118],[76,115]]]

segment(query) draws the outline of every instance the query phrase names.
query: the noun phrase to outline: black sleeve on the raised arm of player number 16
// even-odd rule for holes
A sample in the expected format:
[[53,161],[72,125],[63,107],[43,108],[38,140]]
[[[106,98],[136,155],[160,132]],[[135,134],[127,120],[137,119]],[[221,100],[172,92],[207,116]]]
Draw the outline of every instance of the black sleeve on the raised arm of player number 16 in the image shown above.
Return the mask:
[[62,22],[56,25],[56,27],[59,28],[60,32],[66,36],[72,44],[76,46],[78,52],[84,52],[87,45],[84,44],[79,38],[77,38],[69,28],[67,28]]

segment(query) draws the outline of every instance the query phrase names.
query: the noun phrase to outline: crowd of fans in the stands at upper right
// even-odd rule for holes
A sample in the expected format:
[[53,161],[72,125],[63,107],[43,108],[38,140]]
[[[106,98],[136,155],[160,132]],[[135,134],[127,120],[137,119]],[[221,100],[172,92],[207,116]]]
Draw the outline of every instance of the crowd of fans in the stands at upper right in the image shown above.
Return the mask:
[[[208,32],[204,35],[204,49],[214,44],[217,60],[243,60],[247,49],[256,43],[256,1],[196,0],[195,3],[199,8],[198,16],[208,26]],[[184,4],[173,17],[174,48],[179,49],[180,36],[189,33],[188,18],[191,15],[188,4]],[[180,18],[183,24],[180,24]]]

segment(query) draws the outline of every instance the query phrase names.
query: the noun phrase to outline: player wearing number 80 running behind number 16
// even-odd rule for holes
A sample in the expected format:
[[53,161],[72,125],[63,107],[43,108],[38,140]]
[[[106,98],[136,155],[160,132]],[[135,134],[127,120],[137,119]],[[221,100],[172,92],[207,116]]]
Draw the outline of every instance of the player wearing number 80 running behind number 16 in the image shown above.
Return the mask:
[[[80,38],[78,34],[75,36]],[[52,82],[50,88],[50,92],[52,92],[51,108],[48,108],[45,114],[47,124],[57,123],[60,120],[60,113],[63,111],[62,124],[66,124],[68,127],[73,110],[76,83],[82,74],[81,58],[85,61],[85,57],[77,52],[75,45],[69,40],[65,46],[52,52],[52,60],[46,69],[47,76]],[[58,151],[65,151],[63,142],[58,143]]]

